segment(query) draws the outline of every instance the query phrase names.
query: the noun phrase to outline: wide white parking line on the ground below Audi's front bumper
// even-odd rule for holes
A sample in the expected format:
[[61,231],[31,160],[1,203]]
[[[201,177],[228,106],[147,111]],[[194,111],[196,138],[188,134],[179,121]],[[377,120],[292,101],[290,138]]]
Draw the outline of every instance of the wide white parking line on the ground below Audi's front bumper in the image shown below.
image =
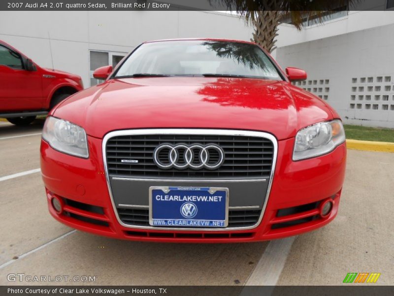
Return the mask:
[[245,286],[275,286],[296,236],[270,241]]

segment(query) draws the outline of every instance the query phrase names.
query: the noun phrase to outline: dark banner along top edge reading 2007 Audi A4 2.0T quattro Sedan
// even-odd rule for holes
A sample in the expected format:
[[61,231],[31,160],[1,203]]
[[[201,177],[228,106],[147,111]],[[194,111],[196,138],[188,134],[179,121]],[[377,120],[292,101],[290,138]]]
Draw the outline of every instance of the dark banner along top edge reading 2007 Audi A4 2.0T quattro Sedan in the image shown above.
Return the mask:
[[392,10],[390,0],[1,0],[1,11]]

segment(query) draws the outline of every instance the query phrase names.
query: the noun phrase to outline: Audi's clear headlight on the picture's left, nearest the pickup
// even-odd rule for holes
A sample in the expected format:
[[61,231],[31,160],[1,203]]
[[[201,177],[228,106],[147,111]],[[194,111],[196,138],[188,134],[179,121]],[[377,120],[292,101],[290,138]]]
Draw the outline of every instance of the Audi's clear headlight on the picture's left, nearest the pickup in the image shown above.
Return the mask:
[[42,139],[61,152],[88,158],[88,141],[85,130],[67,120],[49,116],[45,120]]

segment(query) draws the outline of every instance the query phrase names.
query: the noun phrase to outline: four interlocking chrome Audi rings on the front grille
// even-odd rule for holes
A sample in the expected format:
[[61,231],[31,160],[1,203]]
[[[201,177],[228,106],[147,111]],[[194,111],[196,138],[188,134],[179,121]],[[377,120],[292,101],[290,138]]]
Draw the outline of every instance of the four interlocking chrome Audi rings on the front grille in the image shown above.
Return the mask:
[[153,159],[161,169],[207,168],[214,170],[223,164],[225,152],[215,144],[162,144],[155,149]]

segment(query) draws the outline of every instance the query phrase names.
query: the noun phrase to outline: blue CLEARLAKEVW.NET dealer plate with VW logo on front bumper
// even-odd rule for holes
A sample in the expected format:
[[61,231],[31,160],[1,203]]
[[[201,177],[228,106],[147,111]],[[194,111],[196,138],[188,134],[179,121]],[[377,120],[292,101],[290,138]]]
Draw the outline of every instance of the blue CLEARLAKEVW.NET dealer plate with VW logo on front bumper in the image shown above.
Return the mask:
[[150,187],[149,223],[169,227],[226,227],[229,189]]

